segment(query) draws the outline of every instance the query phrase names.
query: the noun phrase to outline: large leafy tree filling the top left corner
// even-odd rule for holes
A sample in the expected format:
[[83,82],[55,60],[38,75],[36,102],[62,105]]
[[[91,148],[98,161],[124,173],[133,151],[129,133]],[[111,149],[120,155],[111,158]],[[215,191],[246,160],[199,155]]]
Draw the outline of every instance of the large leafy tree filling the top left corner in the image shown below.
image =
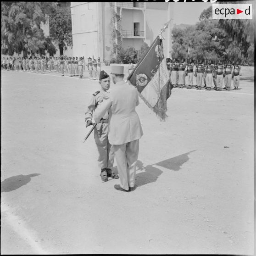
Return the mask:
[[54,2],[1,2],[1,52],[28,56],[51,50],[41,25],[54,10]]

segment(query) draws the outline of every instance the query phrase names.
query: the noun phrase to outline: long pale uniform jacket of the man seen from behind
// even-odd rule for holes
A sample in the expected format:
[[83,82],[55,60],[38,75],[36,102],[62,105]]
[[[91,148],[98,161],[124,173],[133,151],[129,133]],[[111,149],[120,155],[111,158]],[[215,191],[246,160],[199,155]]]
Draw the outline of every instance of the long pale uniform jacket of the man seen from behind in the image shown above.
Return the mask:
[[122,145],[140,139],[143,135],[139,116],[135,107],[139,105],[138,91],[133,85],[117,82],[111,86],[109,97],[95,109],[96,122],[109,111],[109,142]]

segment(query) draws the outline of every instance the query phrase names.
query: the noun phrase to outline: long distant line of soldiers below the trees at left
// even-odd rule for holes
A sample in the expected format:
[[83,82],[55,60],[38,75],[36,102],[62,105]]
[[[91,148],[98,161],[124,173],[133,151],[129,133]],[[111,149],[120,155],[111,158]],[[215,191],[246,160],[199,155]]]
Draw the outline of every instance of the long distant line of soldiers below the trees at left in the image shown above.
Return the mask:
[[83,78],[83,72],[85,67],[89,70],[89,79],[100,78],[101,61],[100,57],[96,60],[92,60],[91,57],[85,60],[84,57],[17,57],[17,58],[3,58],[1,68],[11,71],[23,71],[23,72],[35,72],[44,74],[48,72],[61,73],[61,76],[65,76],[65,73],[69,73],[70,77],[78,76]]

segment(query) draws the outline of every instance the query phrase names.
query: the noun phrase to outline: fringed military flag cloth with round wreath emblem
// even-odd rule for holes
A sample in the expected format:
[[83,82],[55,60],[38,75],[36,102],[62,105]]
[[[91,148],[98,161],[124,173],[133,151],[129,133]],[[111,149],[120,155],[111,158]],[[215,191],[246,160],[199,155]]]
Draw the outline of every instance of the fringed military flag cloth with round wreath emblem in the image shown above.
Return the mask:
[[160,121],[165,121],[167,99],[171,95],[173,85],[170,82],[162,40],[159,36],[150,45],[127,81],[138,89],[140,98],[156,113]]

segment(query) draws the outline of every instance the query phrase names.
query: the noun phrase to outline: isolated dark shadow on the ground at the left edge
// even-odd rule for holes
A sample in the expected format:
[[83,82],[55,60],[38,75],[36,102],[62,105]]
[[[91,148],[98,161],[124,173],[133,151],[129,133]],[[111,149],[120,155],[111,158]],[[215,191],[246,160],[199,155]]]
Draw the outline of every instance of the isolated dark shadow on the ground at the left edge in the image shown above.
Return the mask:
[[40,173],[32,173],[28,175],[21,174],[6,178],[4,181],[1,182],[1,192],[10,192],[12,190],[16,190],[30,182],[31,177],[35,177],[38,175],[40,175]]

